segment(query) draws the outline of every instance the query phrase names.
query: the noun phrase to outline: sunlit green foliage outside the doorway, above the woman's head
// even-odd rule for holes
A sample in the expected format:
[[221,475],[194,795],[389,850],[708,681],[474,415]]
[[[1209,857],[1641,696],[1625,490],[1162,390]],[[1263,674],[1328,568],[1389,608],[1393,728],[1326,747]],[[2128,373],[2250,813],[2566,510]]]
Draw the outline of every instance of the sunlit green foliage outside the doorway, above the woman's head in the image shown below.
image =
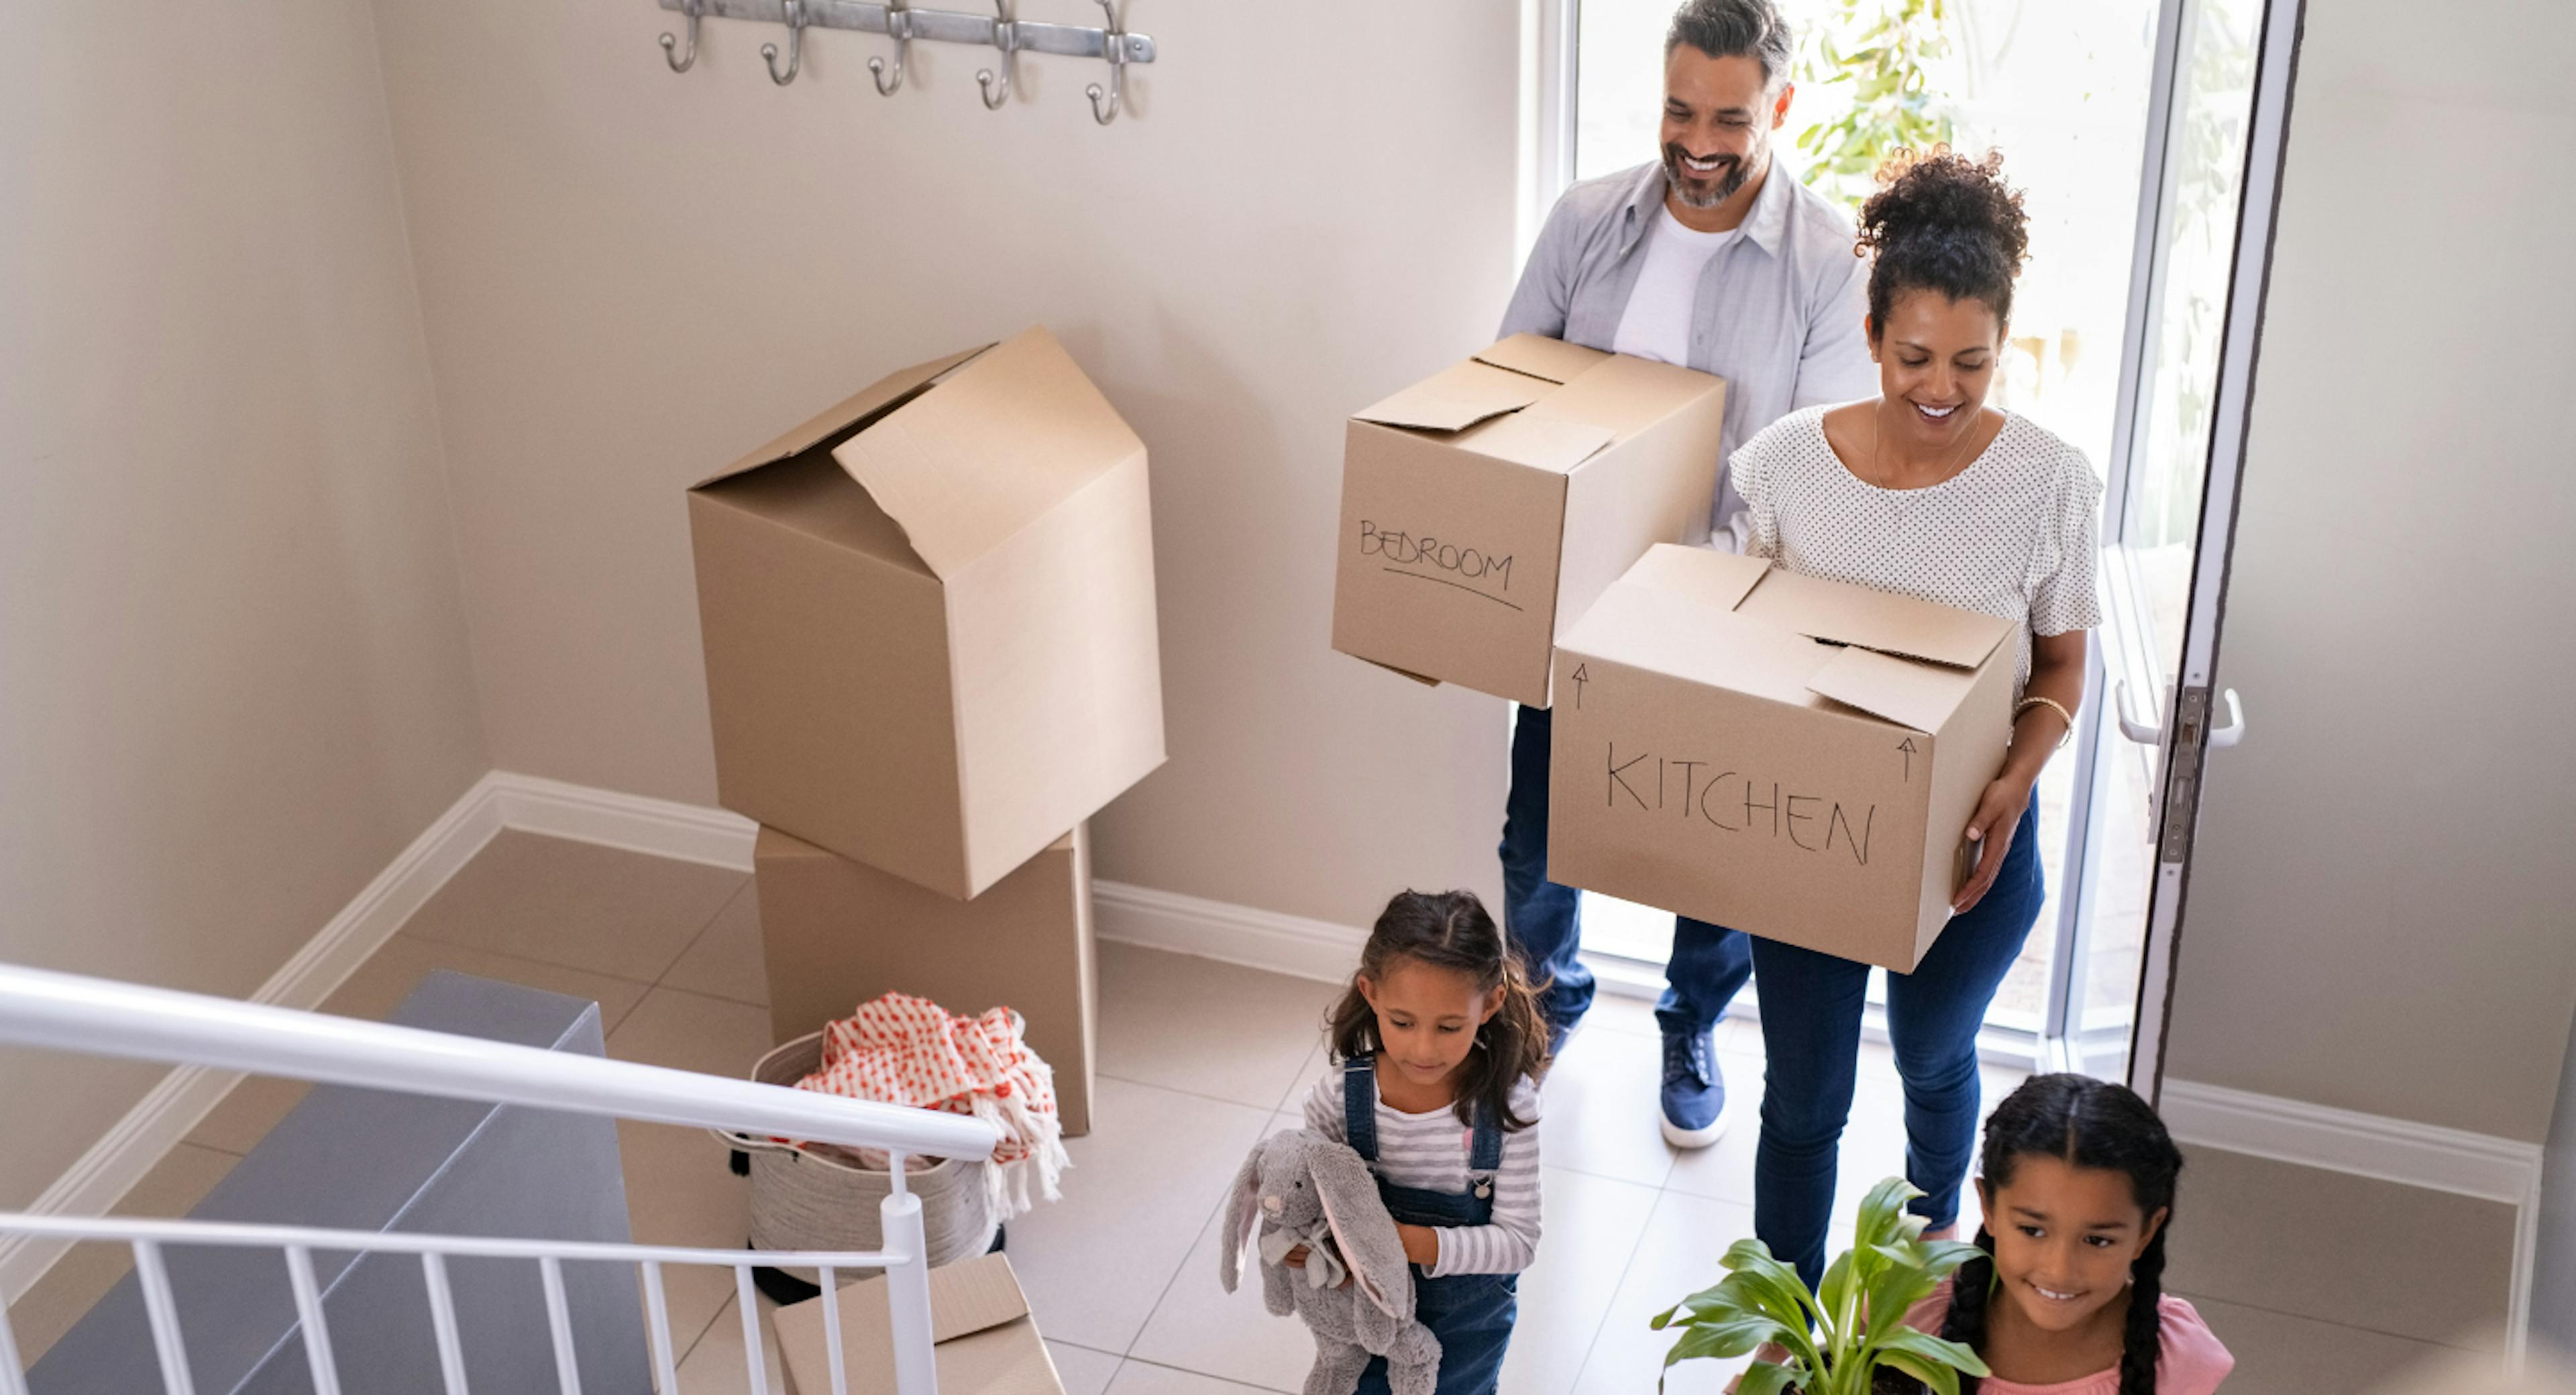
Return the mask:
[[1793,77],[1801,98],[1842,95],[1842,116],[1798,136],[1806,183],[1860,208],[1899,149],[1950,144],[1953,116],[1924,67],[1950,57],[1947,0],[1829,0]]

